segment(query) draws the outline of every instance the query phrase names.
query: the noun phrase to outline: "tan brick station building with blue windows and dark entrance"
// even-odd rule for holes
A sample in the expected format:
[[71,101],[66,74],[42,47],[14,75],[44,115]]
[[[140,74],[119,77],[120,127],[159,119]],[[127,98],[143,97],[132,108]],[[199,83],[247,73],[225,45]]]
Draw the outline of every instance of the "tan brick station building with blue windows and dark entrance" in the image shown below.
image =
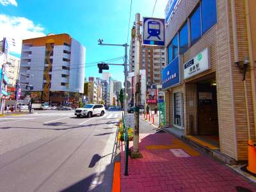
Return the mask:
[[247,160],[248,129],[256,140],[256,2],[174,3],[166,9],[166,124],[192,142],[209,143],[226,163]]

